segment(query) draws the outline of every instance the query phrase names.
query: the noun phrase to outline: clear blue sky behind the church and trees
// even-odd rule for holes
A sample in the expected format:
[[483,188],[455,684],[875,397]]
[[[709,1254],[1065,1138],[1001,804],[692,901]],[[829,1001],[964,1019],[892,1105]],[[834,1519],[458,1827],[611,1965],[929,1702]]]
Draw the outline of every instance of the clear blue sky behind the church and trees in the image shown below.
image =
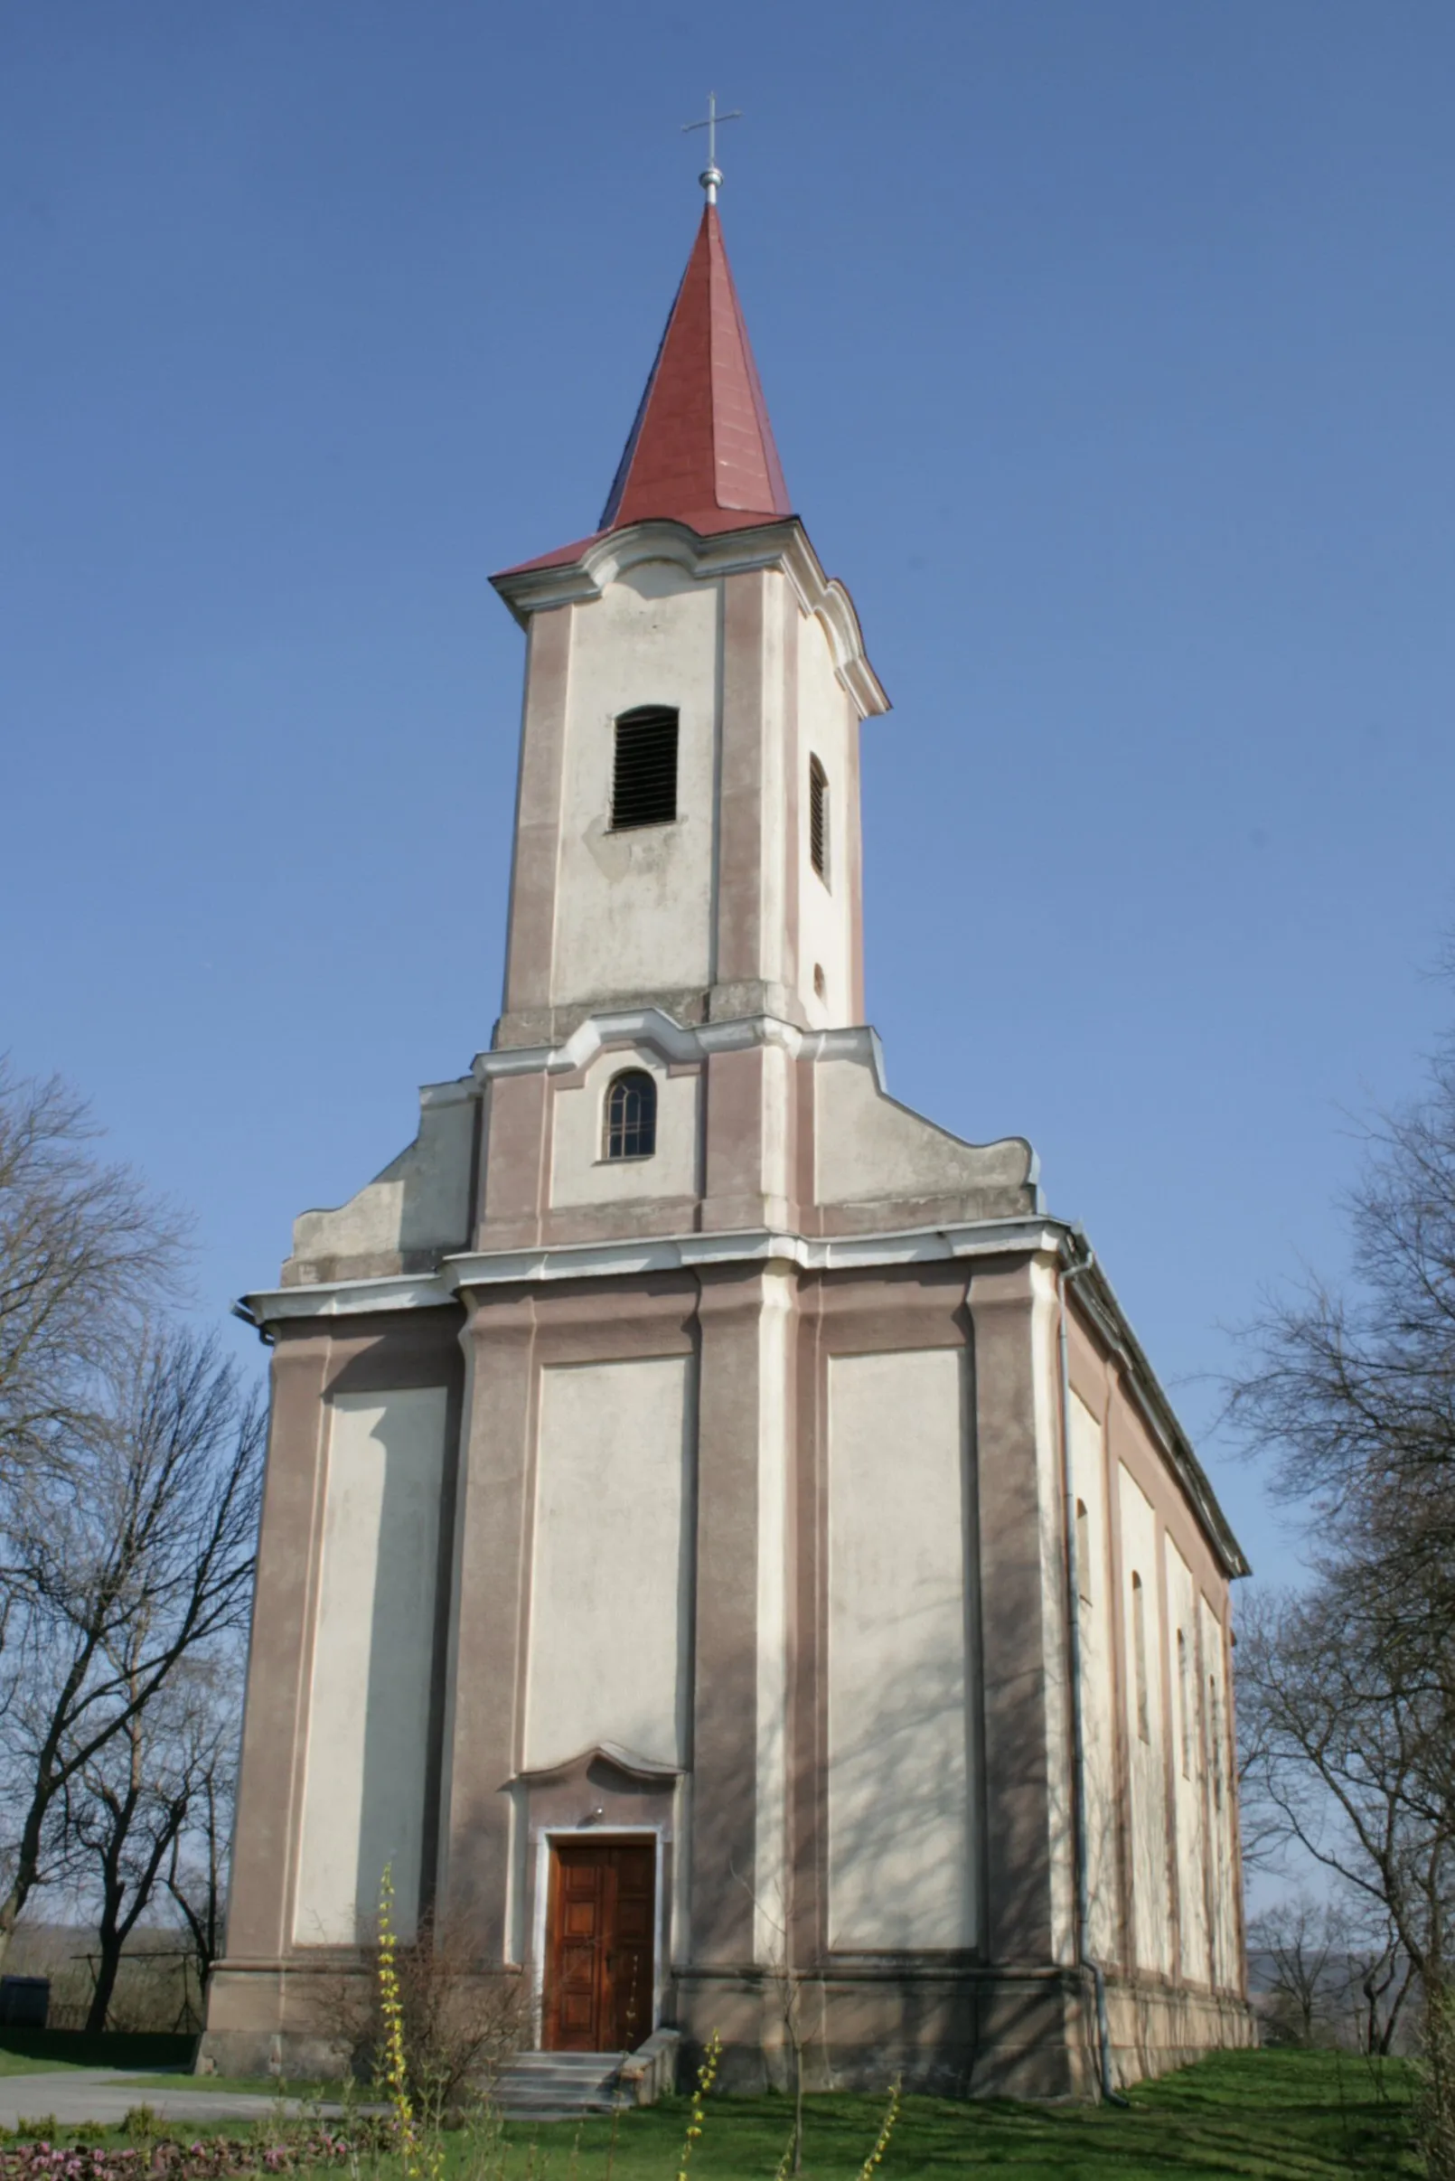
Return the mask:
[[890,1084],[1036,1143],[1200,1426],[1448,1012],[1446,0],[7,9],[0,1043],[196,1208],[205,1313],[489,1043],[486,578],[596,519],[709,85],[894,698]]

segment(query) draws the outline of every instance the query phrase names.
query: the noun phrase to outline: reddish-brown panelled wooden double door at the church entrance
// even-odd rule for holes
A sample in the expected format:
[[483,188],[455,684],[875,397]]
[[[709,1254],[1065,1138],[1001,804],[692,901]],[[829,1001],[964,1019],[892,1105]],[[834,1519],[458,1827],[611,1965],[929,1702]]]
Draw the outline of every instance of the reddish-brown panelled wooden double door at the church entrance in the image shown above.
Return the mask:
[[654,1841],[552,1841],[550,2052],[635,2052],[652,2035]]

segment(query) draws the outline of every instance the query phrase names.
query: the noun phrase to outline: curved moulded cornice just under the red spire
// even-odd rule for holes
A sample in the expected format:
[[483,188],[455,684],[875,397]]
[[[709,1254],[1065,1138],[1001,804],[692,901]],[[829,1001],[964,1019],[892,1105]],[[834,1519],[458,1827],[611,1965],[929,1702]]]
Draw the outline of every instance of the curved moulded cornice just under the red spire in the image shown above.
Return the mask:
[[606,585],[641,561],[670,561],[700,582],[716,582],[748,569],[783,569],[803,611],[822,624],[835,674],[855,700],[859,718],[890,709],[883,683],[868,663],[853,598],[838,576],[825,574],[796,515],[785,521],[720,530],[711,537],[678,521],[633,523],[626,530],[604,530],[580,539],[541,561],[508,567],[500,576],[491,576],[491,582],[526,628],[532,613],[589,604],[602,595]]

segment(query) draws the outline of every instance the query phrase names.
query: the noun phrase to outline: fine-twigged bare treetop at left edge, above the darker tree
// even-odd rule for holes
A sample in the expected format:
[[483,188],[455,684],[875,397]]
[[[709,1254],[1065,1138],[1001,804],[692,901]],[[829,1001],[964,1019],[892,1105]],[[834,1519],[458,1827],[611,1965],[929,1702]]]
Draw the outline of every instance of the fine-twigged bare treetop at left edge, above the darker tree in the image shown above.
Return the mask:
[[98,1361],[177,1285],[183,1221],[96,1136],[59,1077],[0,1060],[0,1487],[68,1448]]

